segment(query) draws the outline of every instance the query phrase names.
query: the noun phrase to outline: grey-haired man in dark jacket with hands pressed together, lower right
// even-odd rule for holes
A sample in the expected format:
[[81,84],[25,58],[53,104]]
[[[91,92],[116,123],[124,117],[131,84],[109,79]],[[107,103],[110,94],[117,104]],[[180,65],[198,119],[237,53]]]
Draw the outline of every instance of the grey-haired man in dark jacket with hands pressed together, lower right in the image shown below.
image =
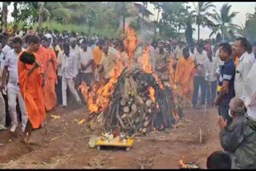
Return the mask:
[[234,157],[236,169],[255,169],[256,121],[245,115],[245,105],[238,97],[231,99],[229,114],[233,117],[229,126],[222,117],[218,119],[222,148]]

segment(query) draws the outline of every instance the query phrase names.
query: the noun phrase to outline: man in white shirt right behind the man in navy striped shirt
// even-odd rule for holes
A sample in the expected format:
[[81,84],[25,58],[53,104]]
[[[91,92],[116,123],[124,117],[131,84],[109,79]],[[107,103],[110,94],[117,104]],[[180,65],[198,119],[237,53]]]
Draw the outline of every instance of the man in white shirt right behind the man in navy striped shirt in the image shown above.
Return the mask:
[[245,89],[246,76],[249,74],[251,66],[254,64],[254,59],[248,54],[249,42],[246,38],[238,38],[234,44],[235,55],[239,58],[236,74],[234,78],[235,96],[245,102],[248,97]]

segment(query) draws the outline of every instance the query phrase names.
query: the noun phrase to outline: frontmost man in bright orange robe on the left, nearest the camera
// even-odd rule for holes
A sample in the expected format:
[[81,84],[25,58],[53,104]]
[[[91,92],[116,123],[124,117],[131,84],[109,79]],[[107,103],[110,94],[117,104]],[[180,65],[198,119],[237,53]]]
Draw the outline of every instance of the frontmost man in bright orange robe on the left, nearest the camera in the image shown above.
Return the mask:
[[[42,78],[38,67],[38,55],[35,54],[40,46],[39,38],[31,36],[27,42],[27,49],[19,54],[18,81],[22,97],[26,104],[28,121],[25,129],[25,142],[28,142],[32,129],[42,126],[46,117],[45,106],[42,98]],[[28,60],[32,58],[32,60]],[[34,58],[34,59],[33,59]]]

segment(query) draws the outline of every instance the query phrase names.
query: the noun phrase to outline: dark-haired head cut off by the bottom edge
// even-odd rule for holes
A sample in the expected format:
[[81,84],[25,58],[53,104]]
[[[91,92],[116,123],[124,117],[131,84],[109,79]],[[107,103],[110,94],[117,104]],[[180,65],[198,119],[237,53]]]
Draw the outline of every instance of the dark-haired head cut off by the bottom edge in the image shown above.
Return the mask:
[[229,154],[215,151],[207,157],[207,169],[231,169],[232,160]]

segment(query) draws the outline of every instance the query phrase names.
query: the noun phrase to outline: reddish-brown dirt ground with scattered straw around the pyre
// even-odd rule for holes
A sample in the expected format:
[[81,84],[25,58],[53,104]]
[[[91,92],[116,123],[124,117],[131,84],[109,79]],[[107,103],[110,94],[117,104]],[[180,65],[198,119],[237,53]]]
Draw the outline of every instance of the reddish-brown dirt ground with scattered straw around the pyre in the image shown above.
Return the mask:
[[[53,120],[51,114],[60,116]],[[207,109],[204,143],[199,142],[199,128],[204,109],[185,109],[184,115],[170,133],[154,132],[148,137],[135,137],[133,148],[90,149],[91,131],[78,121],[85,108],[57,108],[47,113],[46,129],[34,131],[37,146],[20,142],[21,132],[0,132],[0,169],[178,169],[179,159],[206,168],[206,158],[221,149],[218,141],[217,109]],[[18,130],[19,131],[19,130]]]

